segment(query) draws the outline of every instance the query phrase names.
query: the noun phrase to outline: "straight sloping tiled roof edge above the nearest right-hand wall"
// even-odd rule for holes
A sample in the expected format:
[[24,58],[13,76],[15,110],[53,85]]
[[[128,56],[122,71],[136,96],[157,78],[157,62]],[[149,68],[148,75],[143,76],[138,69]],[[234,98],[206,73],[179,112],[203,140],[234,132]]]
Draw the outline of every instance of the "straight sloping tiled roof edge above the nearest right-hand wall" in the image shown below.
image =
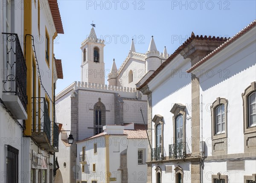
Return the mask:
[[188,73],[190,73],[195,68],[199,67],[201,64],[212,58],[214,55],[216,55],[218,52],[220,52],[222,49],[226,48],[228,45],[236,41],[238,38],[240,38],[242,35],[244,35],[246,32],[251,30],[253,27],[256,26],[256,20],[254,20],[252,23],[250,23],[248,26],[246,26],[244,29],[239,31],[236,35],[234,35],[232,38],[221,44],[221,46],[218,46],[215,50],[213,50],[211,53],[209,53],[207,56],[205,56],[203,59],[201,59],[198,63],[193,65],[192,67],[187,70]]

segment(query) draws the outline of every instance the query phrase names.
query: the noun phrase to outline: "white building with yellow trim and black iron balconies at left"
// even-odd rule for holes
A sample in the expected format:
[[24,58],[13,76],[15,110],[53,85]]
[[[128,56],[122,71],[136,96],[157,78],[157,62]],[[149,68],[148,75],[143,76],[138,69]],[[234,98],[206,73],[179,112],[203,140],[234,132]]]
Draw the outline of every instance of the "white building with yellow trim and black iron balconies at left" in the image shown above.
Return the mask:
[[64,33],[57,1],[6,0],[1,7],[0,182],[53,182],[62,67],[52,42]]

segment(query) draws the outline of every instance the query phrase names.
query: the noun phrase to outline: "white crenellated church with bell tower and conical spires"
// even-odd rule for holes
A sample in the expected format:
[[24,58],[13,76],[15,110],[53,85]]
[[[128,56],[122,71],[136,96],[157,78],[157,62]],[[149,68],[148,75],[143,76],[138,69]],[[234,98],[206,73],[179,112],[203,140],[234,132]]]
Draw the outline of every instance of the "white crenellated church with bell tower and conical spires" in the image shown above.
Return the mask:
[[[143,117],[148,123],[147,96],[136,90],[136,84],[166,61],[169,57],[166,48],[160,53],[152,36],[148,51],[138,53],[132,41],[119,69],[113,60],[108,84],[105,84],[104,46],[104,40],[97,38],[92,27],[90,36],[81,43],[81,81],[74,81],[55,97],[59,106],[56,120],[64,131],[59,137],[59,153],[56,153],[57,183],[79,182],[76,180],[81,174],[81,163],[77,164],[76,156],[82,150],[76,146],[77,141],[103,133],[105,125],[144,124]],[[75,139],[73,145],[68,145],[66,140],[69,131]]]

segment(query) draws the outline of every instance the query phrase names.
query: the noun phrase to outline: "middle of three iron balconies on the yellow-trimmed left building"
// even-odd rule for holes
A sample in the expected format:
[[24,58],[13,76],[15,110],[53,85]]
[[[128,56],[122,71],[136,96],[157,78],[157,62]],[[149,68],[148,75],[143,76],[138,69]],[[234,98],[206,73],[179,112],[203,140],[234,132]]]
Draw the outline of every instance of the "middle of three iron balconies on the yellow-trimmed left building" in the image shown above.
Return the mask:
[[32,101],[32,138],[41,148],[49,149],[51,146],[51,121],[46,100],[44,97],[34,97]]

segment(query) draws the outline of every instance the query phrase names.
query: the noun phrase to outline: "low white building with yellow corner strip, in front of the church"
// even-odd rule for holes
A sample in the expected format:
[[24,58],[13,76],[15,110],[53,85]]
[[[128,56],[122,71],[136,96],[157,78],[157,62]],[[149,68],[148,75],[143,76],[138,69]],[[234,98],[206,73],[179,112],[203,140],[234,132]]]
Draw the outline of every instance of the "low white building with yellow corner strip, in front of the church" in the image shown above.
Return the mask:
[[80,169],[76,181],[146,182],[147,136],[143,128],[144,125],[134,128],[134,123],[106,125],[101,134],[76,142],[76,163]]

